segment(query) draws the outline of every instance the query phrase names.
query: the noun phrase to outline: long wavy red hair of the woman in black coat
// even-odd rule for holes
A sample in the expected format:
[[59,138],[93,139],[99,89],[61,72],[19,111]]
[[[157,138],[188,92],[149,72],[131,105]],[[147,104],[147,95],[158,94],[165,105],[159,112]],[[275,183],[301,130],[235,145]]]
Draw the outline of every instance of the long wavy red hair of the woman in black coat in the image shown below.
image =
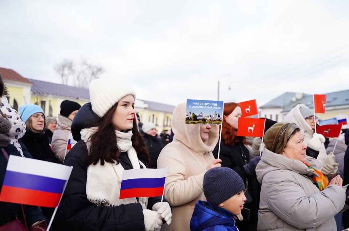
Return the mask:
[[238,103],[224,103],[223,120],[222,120],[222,138],[224,144],[234,146],[235,143],[247,144],[246,137],[238,137],[237,130],[227,123],[224,116],[230,115],[236,107],[240,107]]

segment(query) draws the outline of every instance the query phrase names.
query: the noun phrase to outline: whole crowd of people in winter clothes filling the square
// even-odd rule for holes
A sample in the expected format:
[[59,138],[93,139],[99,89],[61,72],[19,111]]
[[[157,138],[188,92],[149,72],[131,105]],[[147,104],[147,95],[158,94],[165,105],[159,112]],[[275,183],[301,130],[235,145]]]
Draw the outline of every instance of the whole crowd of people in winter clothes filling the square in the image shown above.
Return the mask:
[[[73,166],[50,230],[349,228],[349,130],[326,141],[305,105],[283,122],[266,119],[262,140],[237,135],[238,103],[224,103],[221,126],[185,124],[180,103],[172,130],[158,134],[154,123],[139,121],[131,86],[96,79],[89,94],[83,106],[64,100],[58,118],[0,100],[0,187],[9,155]],[[67,150],[69,137],[77,143]],[[167,168],[163,198],[119,199],[122,172],[145,168]],[[0,230],[13,221],[46,230],[53,211],[0,202]]]

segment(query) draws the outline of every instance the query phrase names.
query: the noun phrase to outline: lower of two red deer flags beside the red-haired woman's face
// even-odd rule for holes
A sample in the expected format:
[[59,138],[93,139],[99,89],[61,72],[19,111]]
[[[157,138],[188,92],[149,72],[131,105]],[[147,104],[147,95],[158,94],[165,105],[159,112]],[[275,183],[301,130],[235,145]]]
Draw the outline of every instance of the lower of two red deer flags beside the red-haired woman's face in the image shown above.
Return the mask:
[[239,117],[238,136],[262,137],[265,119]]

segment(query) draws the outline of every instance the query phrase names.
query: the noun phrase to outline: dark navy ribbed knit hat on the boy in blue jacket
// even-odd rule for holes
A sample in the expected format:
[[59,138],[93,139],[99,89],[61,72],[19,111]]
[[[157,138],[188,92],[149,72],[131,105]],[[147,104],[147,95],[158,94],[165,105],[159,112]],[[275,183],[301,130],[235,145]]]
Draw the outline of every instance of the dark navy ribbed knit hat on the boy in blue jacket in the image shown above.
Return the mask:
[[203,194],[212,205],[219,205],[245,189],[239,174],[227,167],[211,168],[203,176]]

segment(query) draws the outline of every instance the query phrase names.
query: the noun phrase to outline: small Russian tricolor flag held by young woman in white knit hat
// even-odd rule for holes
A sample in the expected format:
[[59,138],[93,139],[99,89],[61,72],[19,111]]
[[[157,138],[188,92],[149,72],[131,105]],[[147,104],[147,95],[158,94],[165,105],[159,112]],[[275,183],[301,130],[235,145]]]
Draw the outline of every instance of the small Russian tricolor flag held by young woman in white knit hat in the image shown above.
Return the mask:
[[161,196],[164,193],[166,173],[166,168],[123,171],[119,199]]

